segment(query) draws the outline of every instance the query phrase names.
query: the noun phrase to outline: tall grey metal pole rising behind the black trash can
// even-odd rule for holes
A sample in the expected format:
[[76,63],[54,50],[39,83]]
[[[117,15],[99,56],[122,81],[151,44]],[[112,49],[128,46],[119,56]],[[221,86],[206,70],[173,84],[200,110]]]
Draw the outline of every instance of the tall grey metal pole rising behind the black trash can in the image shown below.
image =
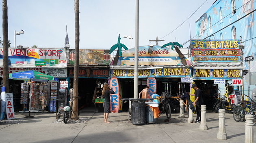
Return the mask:
[[134,98],[138,98],[138,52],[139,52],[139,0],[136,0],[136,14],[135,14],[135,64],[134,64]]

